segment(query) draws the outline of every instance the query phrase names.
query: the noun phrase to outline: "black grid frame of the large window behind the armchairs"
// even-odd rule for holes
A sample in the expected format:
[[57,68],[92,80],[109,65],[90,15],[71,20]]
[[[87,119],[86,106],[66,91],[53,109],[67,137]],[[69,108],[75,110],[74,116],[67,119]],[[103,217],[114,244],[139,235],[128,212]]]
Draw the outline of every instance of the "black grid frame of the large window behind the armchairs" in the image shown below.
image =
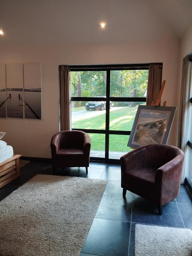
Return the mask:
[[[109,115],[110,115],[110,101],[116,102],[146,102],[146,97],[110,97],[110,75],[113,70],[148,70],[150,64],[158,64],[159,68],[162,68],[162,63],[145,63],[145,64],[120,64],[120,65],[60,65],[68,66],[70,71],[106,71],[106,97],[99,97],[99,100],[106,101],[106,120],[105,130],[99,129],[78,129],[72,128],[72,130],[84,131],[86,133],[99,133],[105,134],[105,158],[102,157],[90,157],[91,161],[105,162],[111,164],[120,164],[120,159],[109,158],[109,135],[130,135],[131,131],[116,131],[109,129]],[[59,81],[60,82],[60,81]],[[98,101],[98,97],[71,97],[71,101]]]

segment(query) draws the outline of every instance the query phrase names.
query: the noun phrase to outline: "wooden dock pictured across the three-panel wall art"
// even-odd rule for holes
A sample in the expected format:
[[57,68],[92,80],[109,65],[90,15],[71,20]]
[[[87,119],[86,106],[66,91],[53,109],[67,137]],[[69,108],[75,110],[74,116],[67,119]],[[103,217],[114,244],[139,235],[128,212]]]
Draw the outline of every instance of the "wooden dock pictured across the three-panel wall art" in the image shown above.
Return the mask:
[[[25,101],[25,118],[41,119],[41,117],[35,112],[35,110]],[[7,111],[9,117],[23,118],[23,99],[21,94],[18,95],[18,99],[11,98],[11,93],[7,97]],[[0,105],[0,112],[6,113],[6,100]]]

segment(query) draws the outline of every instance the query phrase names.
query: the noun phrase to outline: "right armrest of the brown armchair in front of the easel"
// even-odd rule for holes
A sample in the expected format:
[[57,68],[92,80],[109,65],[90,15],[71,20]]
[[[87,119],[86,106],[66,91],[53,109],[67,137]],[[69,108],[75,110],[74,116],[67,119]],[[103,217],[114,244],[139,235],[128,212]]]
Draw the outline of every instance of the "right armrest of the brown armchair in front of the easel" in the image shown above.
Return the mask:
[[157,169],[155,173],[155,197],[160,205],[170,202],[179,194],[184,155],[178,155]]

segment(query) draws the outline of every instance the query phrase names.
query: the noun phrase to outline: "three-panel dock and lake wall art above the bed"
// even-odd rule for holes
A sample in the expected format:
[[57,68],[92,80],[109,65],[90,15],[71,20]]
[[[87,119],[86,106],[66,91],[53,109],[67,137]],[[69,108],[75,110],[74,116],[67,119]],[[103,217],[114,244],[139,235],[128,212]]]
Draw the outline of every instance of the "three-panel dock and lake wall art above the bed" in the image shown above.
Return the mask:
[[41,64],[0,64],[0,118],[41,116]]

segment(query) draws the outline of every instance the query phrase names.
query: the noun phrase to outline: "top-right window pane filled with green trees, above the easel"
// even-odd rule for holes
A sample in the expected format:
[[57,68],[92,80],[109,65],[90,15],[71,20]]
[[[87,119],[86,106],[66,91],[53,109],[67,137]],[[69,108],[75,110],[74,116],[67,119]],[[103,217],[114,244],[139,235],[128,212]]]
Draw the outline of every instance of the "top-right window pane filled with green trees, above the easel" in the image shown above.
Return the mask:
[[148,70],[112,70],[111,97],[146,97]]

